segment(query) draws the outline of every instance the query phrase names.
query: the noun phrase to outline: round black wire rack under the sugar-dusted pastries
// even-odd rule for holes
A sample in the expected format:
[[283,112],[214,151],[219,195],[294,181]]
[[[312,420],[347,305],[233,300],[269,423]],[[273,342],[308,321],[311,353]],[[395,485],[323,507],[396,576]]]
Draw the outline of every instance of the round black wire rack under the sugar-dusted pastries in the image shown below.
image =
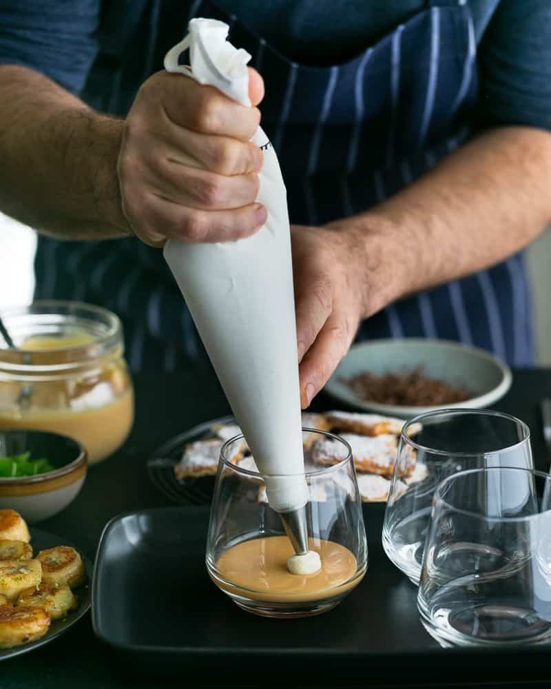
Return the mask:
[[194,428],[175,435],[167,440],[154,452],[147,462],[147,473],[152,483],[171,502],[183,505],[208,505],[214,491],[214,476],[200,476],[179,480],[174,473],[174,465],[180,461],[185,446],[196,440],[203,440],[214,435],[212,426],[215,424],[232,424],[236,420],[233,416],[221,416]]

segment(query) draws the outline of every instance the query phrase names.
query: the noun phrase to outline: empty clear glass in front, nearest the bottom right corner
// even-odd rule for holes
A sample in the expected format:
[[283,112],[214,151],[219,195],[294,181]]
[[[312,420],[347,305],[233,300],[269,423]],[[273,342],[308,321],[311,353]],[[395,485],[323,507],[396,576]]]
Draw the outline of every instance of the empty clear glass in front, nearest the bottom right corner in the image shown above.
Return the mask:
[[441,646],[551,639],[551,477],[493,467],[441,482],[417,604]]

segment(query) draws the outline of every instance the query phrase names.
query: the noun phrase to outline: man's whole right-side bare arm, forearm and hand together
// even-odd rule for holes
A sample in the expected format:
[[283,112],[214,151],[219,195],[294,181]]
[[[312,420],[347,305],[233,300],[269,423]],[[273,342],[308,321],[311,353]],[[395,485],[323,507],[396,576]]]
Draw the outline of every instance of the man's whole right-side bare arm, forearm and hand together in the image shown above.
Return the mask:
[[498,263],[551,221],[551,134],[490,130],[372,209],[293,227],[302,406],[357,325],[391,302]]

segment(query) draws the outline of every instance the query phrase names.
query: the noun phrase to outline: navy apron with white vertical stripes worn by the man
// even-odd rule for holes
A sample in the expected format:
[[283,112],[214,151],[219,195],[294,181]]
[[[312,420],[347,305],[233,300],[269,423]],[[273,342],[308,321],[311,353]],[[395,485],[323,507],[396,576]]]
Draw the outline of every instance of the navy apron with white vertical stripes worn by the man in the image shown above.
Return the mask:
[[[141,3],[141,19],[125,37],[132,60],[115,70],[107,61],[103,72],[96,65],[85,100],[98,110],[125,114],[136,84],[161,68],[188,19],[226,21],[229,39],[251,53],[251,65],[264,76],[262,127],[278,152],[291,223],[322,225],[361,212],[472,134],[476,43],[464,0],[428,1],[351,61],[322,68],[290,61],[245,21],[206,0],[193,3],[191,12],[174,3],[174,16],[166,6],[160,11],[160,0]],[[120,41],[112,45],[121,48]],[[37,298],[85,300],[121,316],[134,371],[209,366],[160,251],[135,238],[59,243],[41,237],[36,272]],[[516,366],[534,364],[523,254],[399,300],[362,322],[357,333],[360,340],[404,336],[459,340]]]

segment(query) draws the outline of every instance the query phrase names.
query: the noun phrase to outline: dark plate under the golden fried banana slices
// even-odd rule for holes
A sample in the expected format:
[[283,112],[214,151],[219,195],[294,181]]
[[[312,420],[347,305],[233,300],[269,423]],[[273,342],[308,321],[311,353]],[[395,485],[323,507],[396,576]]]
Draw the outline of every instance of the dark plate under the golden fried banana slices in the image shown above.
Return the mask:
[[12,658],[16,655],[21,655],[21,653],[28,653],[34,648],[39,648],[39,646],[44,646],[44,644],[48,644],[50,641],[53,641],[53,639],[56,639],[56,637],[59,637],[59,635],[66,632],[76,621],[79,621],[79,619],[81,619],[81,617],[83,617],[83,615],[90,610],[90,605],[92,603],[91,582],[93,566],[92,562],[90,562],[90,560],[83,555],[79,547],[68,542],[67,539],[61,536],[56,536],[48,531],[42,531],[39,528],[31,527],[29,531],[31,537],[30,542],[32,544],[32,550],[34,553],[43,551],[45,548],[54,548],[54,546],[72,546],[72,548],[74,548],[76,551],[79,551],[86,568],[87,583],[84,586],[81,586],[81,588],[76,589],[75,593],[78,603],[76,610],[73,610],[72,613],[69,613],[69,615],[63,619],[52,620],[50,628],[45,635],[41,637],[41,639],[31,641],[30,644],[23,644],[23,646],[16,646],[15,648],[6,648],[6,650],[0,650],[0,661]]

